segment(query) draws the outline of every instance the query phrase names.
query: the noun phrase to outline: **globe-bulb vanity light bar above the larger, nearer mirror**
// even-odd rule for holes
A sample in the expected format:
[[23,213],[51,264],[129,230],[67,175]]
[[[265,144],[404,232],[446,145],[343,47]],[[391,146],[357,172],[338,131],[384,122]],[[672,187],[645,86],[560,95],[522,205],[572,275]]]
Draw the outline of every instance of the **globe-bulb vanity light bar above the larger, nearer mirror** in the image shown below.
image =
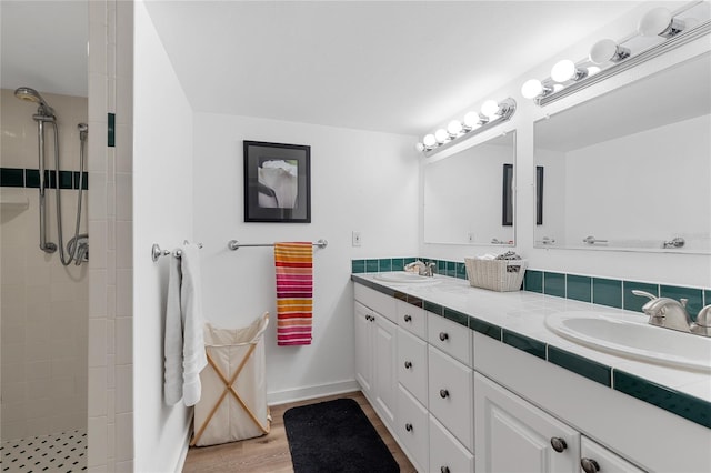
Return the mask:
[[[675,13],[661,7],[648,11],[640,20],[637,31],[622,43],[611,39],[595,42],[588,58],[578,62],[559,61],[551,69],[550,78],[524,82],[521,94],[543,107],[709,34],[711,19],[708,9],[701,3],[703,2],[692,2]],[[700,7],[697,8],[698,6]],[[682,13],[685,14],[683,20],[675,18]],[[659,42],[633,51],[632,44],[649,44],[649,40],[637,40],[639,37],[657,38]],[[629,48],[623,44],[628,41]]]

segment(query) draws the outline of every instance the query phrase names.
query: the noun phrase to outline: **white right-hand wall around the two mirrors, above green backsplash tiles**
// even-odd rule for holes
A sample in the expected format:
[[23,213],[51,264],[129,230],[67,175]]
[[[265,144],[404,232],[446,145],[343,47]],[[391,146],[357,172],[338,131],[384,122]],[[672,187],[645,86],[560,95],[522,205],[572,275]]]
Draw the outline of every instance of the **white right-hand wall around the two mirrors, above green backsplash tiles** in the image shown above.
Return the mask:
[[[671,4],[671,8],[673,9],[675,7]],[[520,92],[521,84],[531,78],[543,79],[548,77],[551,66],[560,59],[570,58],[577,60],[584,58],[591,44],[601,38],[623,38],[635,28],[639,18],[649,9],[649,4],[640,6],[619,21],[614,21],[602,28],[588,40],[567,48],[564,51],[552,57],[550,61],[541,63],[541,66],[534,70],[513,79],[511,82],[503,84],[501,89],[493,90],[483,97],[482,101],[489,97],[498,100],[512,97],[518,103],[517,112],[509,123],[497,127],[479,137],[474,137],[471,139],[471,142],[481,143],[505,130],[517,130],[517,210],[514,220],[517,246],[514,250],[529,260],[530,268],[535,270],[650,281],[672,285],[709,288],[711,286],[711,255],[533,248],[535,228],[533,122],[544,118],[547,114],[553,114],[568,107],[572,107],[609,90],[668,68],[677,62],[690,59],[703,51],[709,51],[709,41],[708,37],[703,37],[544,108],[535,105],[532,100],[524,99]],[[477,110],[481,107],[481,102],[471,104],[470,107],[471,110]],[[464,109],[459,117],[452,117],[452,119],[461,119],[467,110],[468,109]],[[447,122],[442,123],[442,125],[445,124]],[[427,130],[423,132],[427,132]],[[423,161],[423,159],[421,160]],[[420,205],[421,204],[422,202],[420,202]],[[420,232],[422,234],[422,229],[420,229]],[[501,248],[495,246],[472,248],[425,243],[420,245],[420,255],[422,256],[457,261],[462,261],[463,258],[471,256],[472,254],[501,251]]]

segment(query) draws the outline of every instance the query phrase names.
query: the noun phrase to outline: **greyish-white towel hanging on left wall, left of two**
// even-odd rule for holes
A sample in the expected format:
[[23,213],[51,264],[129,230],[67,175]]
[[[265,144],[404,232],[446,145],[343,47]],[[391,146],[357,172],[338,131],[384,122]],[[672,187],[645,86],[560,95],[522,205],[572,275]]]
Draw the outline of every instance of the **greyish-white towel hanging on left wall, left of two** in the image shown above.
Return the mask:
[[168,301],[166,303],[166,339],[163,355],[163,399],[174,405],[182,399],[182,316],[180,310],[180,260],[170,256]]

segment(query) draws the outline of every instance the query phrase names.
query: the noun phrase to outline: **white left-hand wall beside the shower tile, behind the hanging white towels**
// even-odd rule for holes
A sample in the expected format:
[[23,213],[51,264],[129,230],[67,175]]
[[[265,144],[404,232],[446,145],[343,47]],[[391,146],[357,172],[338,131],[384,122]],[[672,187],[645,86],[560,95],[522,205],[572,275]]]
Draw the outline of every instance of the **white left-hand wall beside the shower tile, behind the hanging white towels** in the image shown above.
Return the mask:
[[[173,471],[192,410],[163,403],[163,331],[172,250],[192,239],[192,110],[142,2],[136,3],[133,189],[134,470]],[[199,159],[196,160],[199,163]]]

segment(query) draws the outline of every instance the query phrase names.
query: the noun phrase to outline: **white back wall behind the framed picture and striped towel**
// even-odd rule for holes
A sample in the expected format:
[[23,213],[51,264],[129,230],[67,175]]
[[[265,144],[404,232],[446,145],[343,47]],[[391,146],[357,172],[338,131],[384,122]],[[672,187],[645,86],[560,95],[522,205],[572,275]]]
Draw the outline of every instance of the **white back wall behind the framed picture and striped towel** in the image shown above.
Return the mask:
[[[311,222],[244,223],[242,141],[311,147]],[[413,137],[221,114],[194,117],[194,235],[202,250],[206,316],[221,326],[271,314],[270,402],[353,389],[351,259],[413,256],[418,162]],[[362,246],[351,246],[351,231]],[[317,241],[313,343],[277,346],[273,250],[227,242]]]

